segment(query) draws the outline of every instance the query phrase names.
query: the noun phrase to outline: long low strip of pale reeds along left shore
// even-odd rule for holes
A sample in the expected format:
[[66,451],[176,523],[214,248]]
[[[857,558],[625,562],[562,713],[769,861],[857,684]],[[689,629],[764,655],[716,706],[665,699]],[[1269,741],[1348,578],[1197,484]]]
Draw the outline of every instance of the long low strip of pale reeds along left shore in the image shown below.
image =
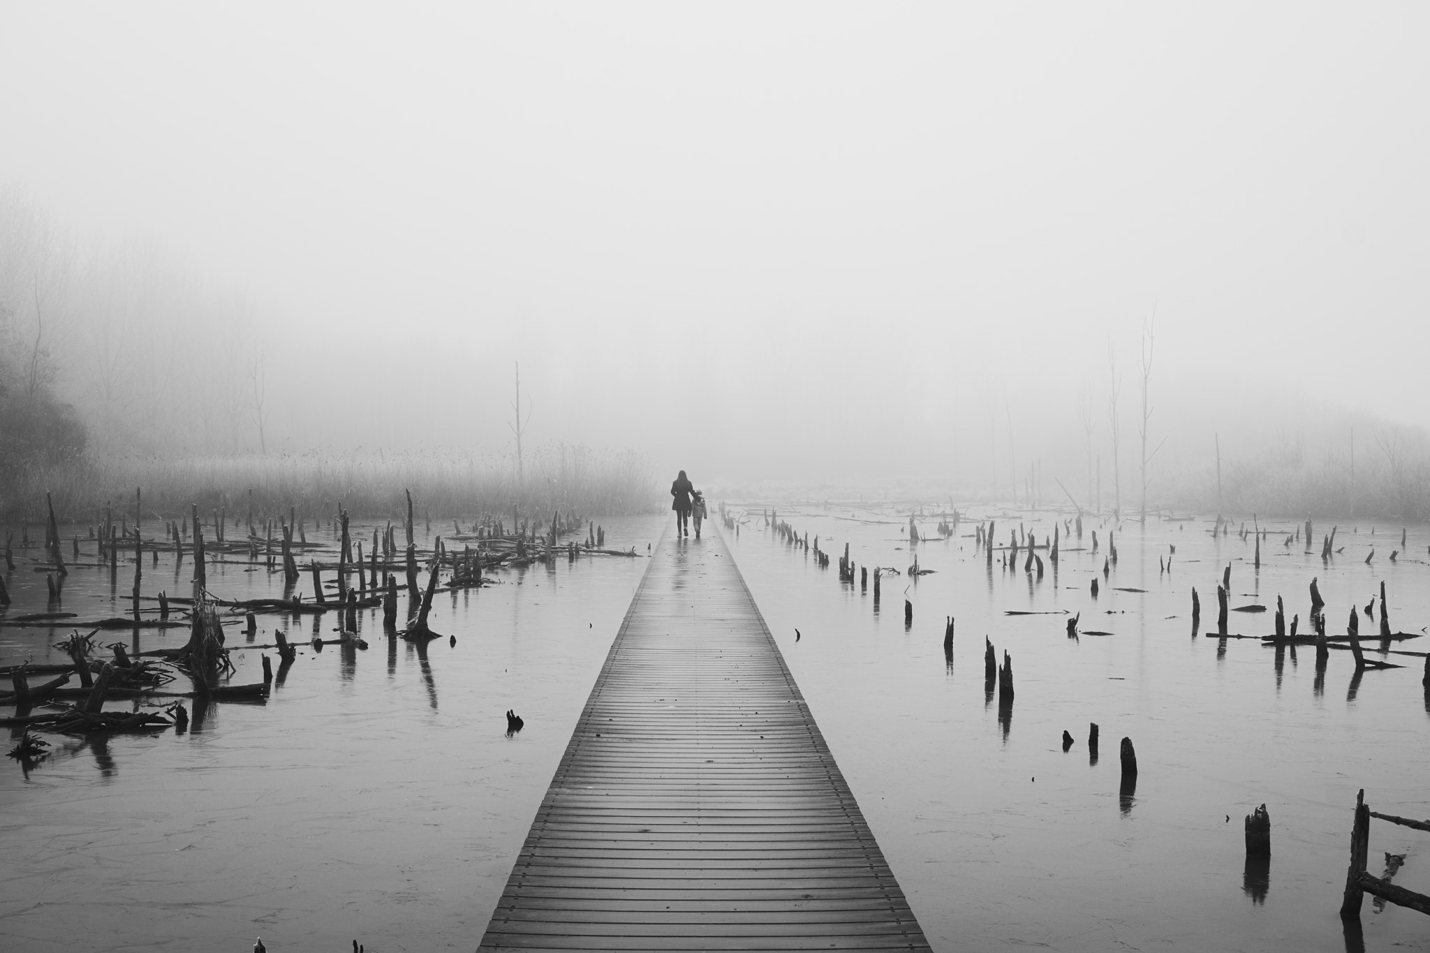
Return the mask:
[[342,504],[355,517],[398,517],[412,492],[419,514],[450,519],[482,513],[542,516],[576,512],[622,516],[659,509],[646,460],[631,450],[556,444],[525,456],[522,477],[509,456],[470,451],[352,451],[267,456],[87,454],[21,469],[0,487],[0,522],[39,523],[46,493],[61,522],[89,522],[106,506],[134,506],[144,517],[179,519],[227,509],[230,516],[286,513],[326,517]]

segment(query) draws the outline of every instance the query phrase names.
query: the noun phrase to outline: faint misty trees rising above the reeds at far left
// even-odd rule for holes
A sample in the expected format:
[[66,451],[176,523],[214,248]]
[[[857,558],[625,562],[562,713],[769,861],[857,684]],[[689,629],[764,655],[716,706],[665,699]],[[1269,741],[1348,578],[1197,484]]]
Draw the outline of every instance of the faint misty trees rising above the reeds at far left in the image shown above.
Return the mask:
[[0,187],[4,386],[70,404],[109,451],[259,449],[252,309],[137,240],[82,239]]

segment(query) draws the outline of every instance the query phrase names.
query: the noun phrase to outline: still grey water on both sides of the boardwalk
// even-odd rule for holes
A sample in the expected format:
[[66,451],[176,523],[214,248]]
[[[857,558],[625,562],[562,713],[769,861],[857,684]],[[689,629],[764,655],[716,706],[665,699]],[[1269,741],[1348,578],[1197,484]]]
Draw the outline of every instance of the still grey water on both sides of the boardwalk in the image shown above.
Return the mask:
[[[1041,553],[1040,580],[1022,572],[1022,554],[1015,569],[998,559],[990,569],[965,520],[954,537],[919,543],[919,566],[935,572],[915,582],[907,507],[781,506],[779,519],[818,534],[835,563],[848,543],[855,563],[899,570],[882,579],[875,612],[872,580],[861,590],[834,564],[818,569],[765,527],[764,509],[731,504],[744,520],[738,536],[725,533],[732,553],[935,949],[1343,950],[1356,790],[1376,810],[1430,817],[1421,657],[1383,656],[1367,640],[1371,657],[1407,667],[1357,684],[1346,652],[1317,680],[1311,647],[1278,653],[1205,634],[1227,564],[1233,606],[1274,612],[1280,593],[1303,632],[1317,576],[1331,634],[1381,580],[1393,627],[1420,633],[1430,622],[1424,527],[1411,527],[1391,564],[1400,527],[1341,526],[1344,552],[1323,564],[1318,543],[1310,554],[1301,542],[1284,547],[1294,527],[1277,524],[1256,570],[1240,524],[1213,537],[1203,520],[1150,523],[1145,534],[1124,523],[1104,579],[1113,527],[1085,522],[1081,540],[1064,536],[1057,567]],[[972,516],[998,520],[1000,544],[1020,523],[1042,543],[1065,519]],[[611,520],[608,546],[645,553],[668,522]],[[932,536],[937,522],[921,519],[919,530]],[[10,617],[46,607],[43,576],[26,562],[37,550],[19,556],[6,576]],[[212,592],[280,593],[279,574],[229,559],[209,570]],[[443,637],[425,653],[383,637],[376,612],[363,612],[369,650],[303,646],[266,704],[209,706],[186,734],[46,736],[54,754],[29,777],[0,764],[4,949],[245,950],[255,936],[275,953],[352,939],[373,952],[475,949],[645,566],[559,559],[439,593],[432,627],[458,643]],[[146,556],[144,592],[186,592],[189,572],[172,553],[157,567]],[[122,614],[130,579],[124,562],[116,589],[107,570],[76,569],[61,607],[82,620]],[[1064,614],[1010,610],[1081,613],[1084,630],[1111,634],[1071,640]],[[1230,630],[1270,634],[1271,612],[1231,613]],[[947,616],[957,620],[951,664]],[[295,642],[315,632],[312,617],[260,616],[256,642],[270,643],[275,624]],[[332,636],[335,624],[320,617],[316,630]],[[47,646],[69,630],[0,627],[0,663],[63,662]],[[1361,632],[1376,624],[1361,616]],[[1000,659],[1012,656],[1011,717],[984,692],[985,636]],[[139,649],[184,639],[144,632]],[[99,640],[134,649],[129,633]],[[1421,642],[1391,647],[1423,652]],[[230,630],[229,646],[242,644]],[[260,680],[259,654],[233,653],[235,683]],[[515,737],[506,709],[525,719]],[[1090,722],[1101,729],[1095,764]],[[1067,753],[1064,730],[1075,739]],[[1118,793],[1123,736],[1140,766],[1130,797]],[[1261,803],[1268,867],[1246,863],[1243,840],[1243,816]],[[1371,822],[1371,872],[1384,852],[1404,853],[1396,883],[1430,893],[1427,846],[1426,834]],[[1364,949],[1430,949],[1423,914],[1376,913],[1367,899],[1361,920]]]

